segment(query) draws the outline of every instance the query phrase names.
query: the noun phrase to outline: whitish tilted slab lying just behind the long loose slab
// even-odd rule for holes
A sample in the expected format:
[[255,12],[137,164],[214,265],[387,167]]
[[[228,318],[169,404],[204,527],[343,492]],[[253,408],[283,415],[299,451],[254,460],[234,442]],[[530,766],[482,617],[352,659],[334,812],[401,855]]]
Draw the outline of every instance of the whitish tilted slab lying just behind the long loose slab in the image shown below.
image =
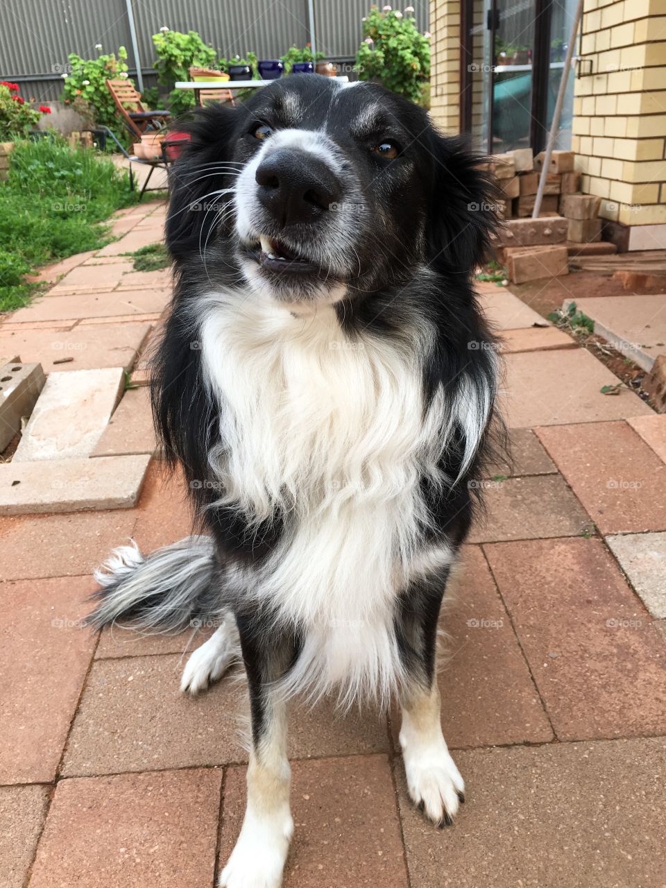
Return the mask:
[[51,373],[12,463],[90,456],[123,394],[123,368]]

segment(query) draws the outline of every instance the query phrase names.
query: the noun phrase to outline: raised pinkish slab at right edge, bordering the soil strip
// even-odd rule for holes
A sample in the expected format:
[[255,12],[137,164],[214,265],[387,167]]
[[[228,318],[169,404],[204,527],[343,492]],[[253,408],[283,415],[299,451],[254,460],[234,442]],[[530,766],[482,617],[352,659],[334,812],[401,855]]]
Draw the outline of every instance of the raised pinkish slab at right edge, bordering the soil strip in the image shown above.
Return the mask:
[[[571,302],[566,299],[564,307]],[[576,308],[594,321],[594,332],[645,370],[666,354],[666,297],[609,296],[576,299]]]

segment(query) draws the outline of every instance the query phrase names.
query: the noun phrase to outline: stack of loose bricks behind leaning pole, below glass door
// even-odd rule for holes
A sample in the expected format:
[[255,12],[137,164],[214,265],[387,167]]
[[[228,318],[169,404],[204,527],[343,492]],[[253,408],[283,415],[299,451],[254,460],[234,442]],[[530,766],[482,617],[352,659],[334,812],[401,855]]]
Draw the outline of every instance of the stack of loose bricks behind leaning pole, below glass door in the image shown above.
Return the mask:
[[[561,197],[579,190],[581,174],[574,170],[574,161],[570,151],[552,152],[540,215],[557,216]],[[543,152],[535,157],[531,148],[516,148],[490,158],[486,169],[493,173],[503,192],[499,208],[502,218],[532,215],[542,167]]]

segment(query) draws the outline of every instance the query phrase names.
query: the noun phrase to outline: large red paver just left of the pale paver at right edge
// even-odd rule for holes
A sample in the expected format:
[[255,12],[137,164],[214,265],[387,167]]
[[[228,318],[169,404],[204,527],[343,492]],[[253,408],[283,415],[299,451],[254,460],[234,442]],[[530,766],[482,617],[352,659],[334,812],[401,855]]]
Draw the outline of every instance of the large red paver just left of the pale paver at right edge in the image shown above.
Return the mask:
[[604,544],[484,549],[558,737],[666,732],[666,647]]

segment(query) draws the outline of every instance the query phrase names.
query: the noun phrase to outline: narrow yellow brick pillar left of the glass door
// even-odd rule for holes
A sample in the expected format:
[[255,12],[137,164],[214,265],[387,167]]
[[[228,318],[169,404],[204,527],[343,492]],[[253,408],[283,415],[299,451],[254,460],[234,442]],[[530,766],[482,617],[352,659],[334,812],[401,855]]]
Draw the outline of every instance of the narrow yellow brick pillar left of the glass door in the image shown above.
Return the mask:
[[440,130],[460,131],[460,0],[431,0],[430,113]]

